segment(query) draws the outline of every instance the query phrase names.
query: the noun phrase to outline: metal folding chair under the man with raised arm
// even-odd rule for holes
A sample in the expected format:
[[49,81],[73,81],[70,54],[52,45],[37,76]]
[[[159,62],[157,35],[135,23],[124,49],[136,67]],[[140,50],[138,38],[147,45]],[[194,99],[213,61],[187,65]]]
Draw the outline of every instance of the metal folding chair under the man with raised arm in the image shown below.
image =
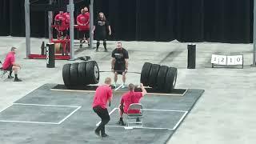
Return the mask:
[[[130,110],[138,110],[139,113],[130,113]],[[143,106],[141,103],[133,103],[130,104],[128,110],[127,110],[127,126],[130,126],[130,124],[139,124],[139,126],[143,126]],[[139,121],[137,121],[139,119]]]

